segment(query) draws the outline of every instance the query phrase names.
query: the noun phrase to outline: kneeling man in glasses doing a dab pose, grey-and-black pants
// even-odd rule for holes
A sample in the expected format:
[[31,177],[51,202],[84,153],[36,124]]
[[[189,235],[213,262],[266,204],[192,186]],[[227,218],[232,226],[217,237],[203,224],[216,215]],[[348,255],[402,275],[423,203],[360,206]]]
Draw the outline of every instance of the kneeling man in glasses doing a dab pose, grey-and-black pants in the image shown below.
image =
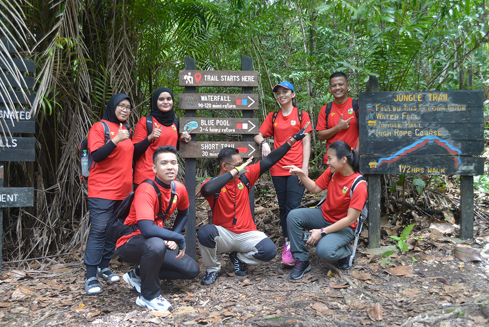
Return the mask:
[[213,284],[219,277],[221,263],[217,252],[229,254],[238,276],[248,274],[246,264],[270,261],[277,254],[273,241],[258,231],[253,222],[249,189],[296,141],[307,135],[304,131],[305,128],[255,164],[249,164],[253,157],[243,163],[238,149],[225,147],[219,152],[219,175],[205,180],[200,188],[200,193],[209,202],[209,216],[212,217],[212,224],[202,226],[197,233],[205,268],[203,285]]

